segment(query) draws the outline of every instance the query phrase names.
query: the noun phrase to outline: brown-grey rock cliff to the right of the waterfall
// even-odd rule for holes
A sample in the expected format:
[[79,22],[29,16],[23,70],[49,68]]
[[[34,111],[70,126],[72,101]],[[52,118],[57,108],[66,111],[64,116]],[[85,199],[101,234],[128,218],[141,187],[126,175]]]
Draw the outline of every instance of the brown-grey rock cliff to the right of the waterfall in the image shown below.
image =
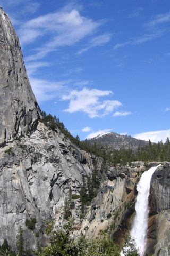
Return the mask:
[[147,252],[168,256],[170,247],[170,166],[164,163],[152,175]]

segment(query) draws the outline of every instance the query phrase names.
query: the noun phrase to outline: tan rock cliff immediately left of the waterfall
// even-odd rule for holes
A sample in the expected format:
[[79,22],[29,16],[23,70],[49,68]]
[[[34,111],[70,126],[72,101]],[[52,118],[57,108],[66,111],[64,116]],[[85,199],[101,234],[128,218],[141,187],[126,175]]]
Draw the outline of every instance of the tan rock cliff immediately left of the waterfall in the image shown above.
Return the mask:
[[[100,230],[105,229],[110,229],[111,233],[120,229],[123,233],[124,229],[128,229],[124,218],[129,219],[128,212],[131,212],[130,215],[134,212],[134,209],[133,211],[129,209],[134,203],[135,186],[145,170],[144,162],[138,163],[138,167],[109,168],[106,179],[82,225],[87,237],[96,237]],[[123,237],[120,234],[119,236]]]

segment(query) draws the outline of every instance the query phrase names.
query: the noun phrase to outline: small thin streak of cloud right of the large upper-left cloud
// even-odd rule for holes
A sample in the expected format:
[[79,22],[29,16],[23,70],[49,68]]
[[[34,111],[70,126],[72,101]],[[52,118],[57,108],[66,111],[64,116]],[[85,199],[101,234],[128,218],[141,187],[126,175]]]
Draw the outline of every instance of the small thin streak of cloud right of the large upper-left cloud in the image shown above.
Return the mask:
[[89,42],[89,45],[80,51],[78,51],[77,54],[82,54],[83,52],[87,52],[89,49],[96,47],[96,46],[102,46],[109,41],[111,41],[112,34],[110,33],[105,33],[103,35],[99,35],[95,38],[92,38],[91,41]]

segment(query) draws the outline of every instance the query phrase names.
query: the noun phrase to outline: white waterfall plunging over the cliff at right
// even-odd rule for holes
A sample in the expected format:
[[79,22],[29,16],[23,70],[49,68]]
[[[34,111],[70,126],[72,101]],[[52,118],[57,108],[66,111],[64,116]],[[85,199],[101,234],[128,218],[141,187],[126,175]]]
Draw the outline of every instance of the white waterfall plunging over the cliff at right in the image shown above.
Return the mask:
[[[150,181],[152,178],[152,174],[155,172],[158,166],[151,167],[148,171],[144,172],[141,175],[140,181],[137,185],[138,196],[135,203],[136,215],[132,225],[131,237],[135,239],[137,247],[140,249],[142,255],[143,253],[145,253],[146,249]],[[121,255],[123,256],[124,254],[121,252]]]

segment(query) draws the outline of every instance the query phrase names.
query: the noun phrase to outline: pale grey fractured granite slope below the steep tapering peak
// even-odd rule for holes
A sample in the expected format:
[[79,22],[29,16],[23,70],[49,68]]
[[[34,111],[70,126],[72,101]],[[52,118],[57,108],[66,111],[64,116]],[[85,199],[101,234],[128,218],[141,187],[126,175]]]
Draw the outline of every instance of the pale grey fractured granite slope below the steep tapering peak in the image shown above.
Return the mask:
[[[49,130],[43,123],[0,148],[0,244],[7,238],[15,248],[21,226],[30,247],[36,249],[37,241],[44,239],[44,221],[55,218],[60,225],[69,189],[79,194],[82,175],[91,173],[83,162],[80,149],[64,139],[60,130]],[[75,214],[78,218],[78,208]],[[37,220],[33,231],[25,226],[25,219],[32,218]]]

